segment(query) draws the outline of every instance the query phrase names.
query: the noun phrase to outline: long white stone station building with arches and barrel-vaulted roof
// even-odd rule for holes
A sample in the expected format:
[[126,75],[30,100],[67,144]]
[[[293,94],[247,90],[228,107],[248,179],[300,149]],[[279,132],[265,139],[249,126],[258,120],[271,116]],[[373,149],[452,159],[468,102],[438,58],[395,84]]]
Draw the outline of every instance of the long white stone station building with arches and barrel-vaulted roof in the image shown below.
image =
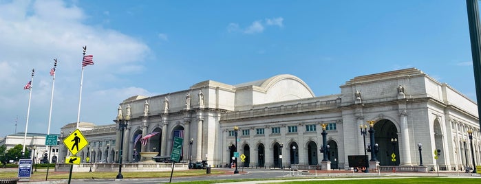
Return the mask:
[[[140,152],[169,156],[176,136],[184,138],[182,162],[229,165],[237,146],[246,156],[238,163],[249,167],[321,165],[326,154],[331,168],[345,169],[348,156],[365,154],[370,133],[363,137],[359,127],[369,130],[367,122],[372,121],[379,165],[420,165],[419,143],[428,168],[437,163],[440,170],[463,170],[473,160],[480,165],[477,104],[449,85],[410,68],[355,77],[340,89],[339,94],[317,97],[300,78],[279,75],[235,85],[207,80],[184,91],[129,97],[112,107],[118,111],[116,124],[81,122],[90,146],[77,156],[118,162],[118,119],[128,116],[124,163],[139,161]],[[329,149],[320,152],[323,125]],[[75,123],[65,125],[60,139],[75,128]],[[136,141],[151,133],[155,135],[146,146]],[[67,149],[60,147],[63,158]],[[441,151],[437,160],[434,150]]]

